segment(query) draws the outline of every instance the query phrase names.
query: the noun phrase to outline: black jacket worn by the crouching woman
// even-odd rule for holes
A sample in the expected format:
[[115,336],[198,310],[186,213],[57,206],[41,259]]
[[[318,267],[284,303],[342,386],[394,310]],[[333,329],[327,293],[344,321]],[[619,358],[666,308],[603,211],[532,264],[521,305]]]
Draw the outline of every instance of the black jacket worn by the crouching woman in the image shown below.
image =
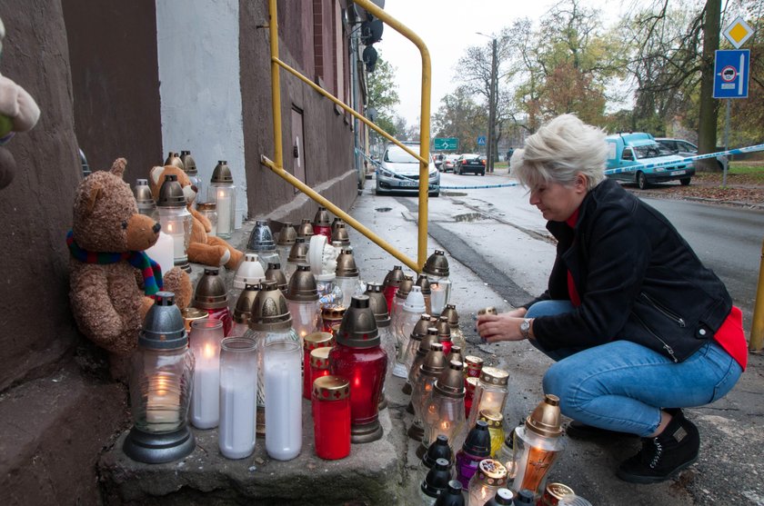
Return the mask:
[[532,303],[568,300],[569,270],[581,305],[534,320],[546,350],[626,340],[681,362],[732,309],[724,284],[673,225],[612,180],[588,192],[575,228],[561,222],[547,228],[558,239],[557,258],[547,292]]

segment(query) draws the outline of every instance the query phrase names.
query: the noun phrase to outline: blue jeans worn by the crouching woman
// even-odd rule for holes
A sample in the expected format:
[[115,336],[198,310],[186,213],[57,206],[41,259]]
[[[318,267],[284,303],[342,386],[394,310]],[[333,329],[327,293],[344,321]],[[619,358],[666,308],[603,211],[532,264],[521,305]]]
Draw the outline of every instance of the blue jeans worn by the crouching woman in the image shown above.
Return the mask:
[[[542,301],[527,318],[573,311],[568,301]],[[714,402],[732,390],[742,369],[709,341],[684,362],[641,344],[613,341],[594,348],[545,351],[557,363],[544,375],[544,392],[560,399],[566,416],[588,425],[646,437],[658,430],[661,408]]]

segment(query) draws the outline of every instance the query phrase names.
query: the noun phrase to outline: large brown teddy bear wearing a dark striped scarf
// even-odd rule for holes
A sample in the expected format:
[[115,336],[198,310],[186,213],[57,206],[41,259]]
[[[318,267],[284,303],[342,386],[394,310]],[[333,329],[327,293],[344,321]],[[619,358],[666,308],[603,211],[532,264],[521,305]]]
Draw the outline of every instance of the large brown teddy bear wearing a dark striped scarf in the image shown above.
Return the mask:
[[119,158],[110,171],[96,171],[79,184],[74,226],[66,237],[75,321],[88,339],[112,353],[113,368],[116,358],[136,348],[154,293],[175,293],[180,308],[192,295],[188,274],[175,267],[159,276],[158,264],[144,253],[156,243],[160,225],[138,213],[130,185],[122,180],[125,166]]

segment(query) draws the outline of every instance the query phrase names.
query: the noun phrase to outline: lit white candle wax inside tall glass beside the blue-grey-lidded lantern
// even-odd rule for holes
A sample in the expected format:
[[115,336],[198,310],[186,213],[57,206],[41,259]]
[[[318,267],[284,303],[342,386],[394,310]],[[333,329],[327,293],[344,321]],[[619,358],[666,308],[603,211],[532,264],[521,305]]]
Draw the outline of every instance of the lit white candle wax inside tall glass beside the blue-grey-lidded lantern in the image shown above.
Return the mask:
[[220,420],[220,361],[210,342],[200,354],[196,357],[190,418],[197,429],[213,429]]

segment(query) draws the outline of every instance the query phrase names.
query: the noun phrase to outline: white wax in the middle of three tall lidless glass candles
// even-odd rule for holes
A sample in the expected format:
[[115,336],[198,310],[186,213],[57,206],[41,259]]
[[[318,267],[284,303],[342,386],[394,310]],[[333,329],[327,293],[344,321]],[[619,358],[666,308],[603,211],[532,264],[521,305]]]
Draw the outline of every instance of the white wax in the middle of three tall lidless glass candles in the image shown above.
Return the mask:
[[218,446],[228,459],[243,459],[255,451],[256,374],[232,375],[220,384]]

